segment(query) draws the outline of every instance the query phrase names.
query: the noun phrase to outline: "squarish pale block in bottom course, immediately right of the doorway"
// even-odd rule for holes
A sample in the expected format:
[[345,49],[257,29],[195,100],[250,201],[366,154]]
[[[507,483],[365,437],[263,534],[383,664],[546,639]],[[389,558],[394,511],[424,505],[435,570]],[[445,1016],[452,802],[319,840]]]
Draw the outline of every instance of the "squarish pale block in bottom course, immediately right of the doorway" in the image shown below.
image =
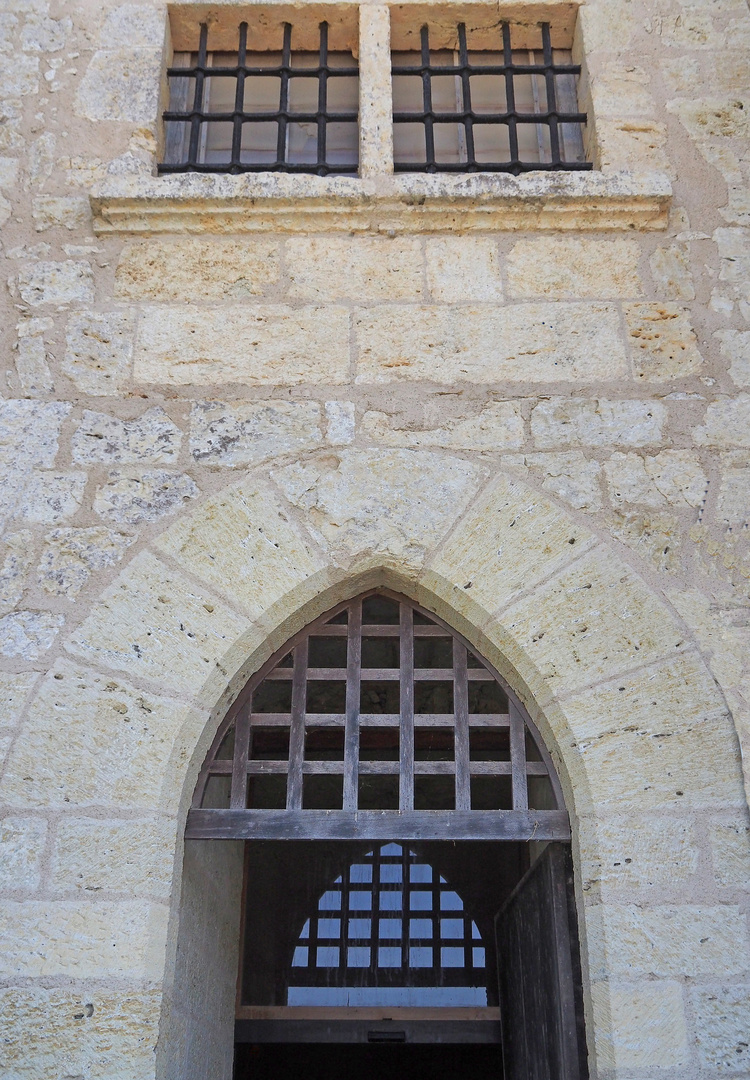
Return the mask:
[[655,1070],[687,1064],[689,1050],[680,983],[600,983],[592,993],[594,1024],[601,1031],[598,1042],[602,1068]]

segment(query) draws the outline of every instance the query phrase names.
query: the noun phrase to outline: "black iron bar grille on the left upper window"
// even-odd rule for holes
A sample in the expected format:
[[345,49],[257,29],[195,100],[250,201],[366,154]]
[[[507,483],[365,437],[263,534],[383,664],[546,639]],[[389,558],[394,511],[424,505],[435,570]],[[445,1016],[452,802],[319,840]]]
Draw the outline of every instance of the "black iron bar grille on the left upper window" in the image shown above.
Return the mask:
[[356,173],[359,68],[350,52],[329,50],[320,24],[317,52],[252,52],[247,24],[237,53],[177,53],[168,69],[165,152],[160,173]]

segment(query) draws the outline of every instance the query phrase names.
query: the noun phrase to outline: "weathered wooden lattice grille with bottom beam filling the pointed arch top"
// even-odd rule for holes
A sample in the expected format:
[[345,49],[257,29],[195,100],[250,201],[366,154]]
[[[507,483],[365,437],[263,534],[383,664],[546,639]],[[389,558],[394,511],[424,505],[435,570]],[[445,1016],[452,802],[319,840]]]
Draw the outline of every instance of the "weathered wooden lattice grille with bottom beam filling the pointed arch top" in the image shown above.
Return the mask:
[[497,673],[436,616],[380,591],[316,621],[250,680],[201,771],[188,835],[570,828],[544,743]]

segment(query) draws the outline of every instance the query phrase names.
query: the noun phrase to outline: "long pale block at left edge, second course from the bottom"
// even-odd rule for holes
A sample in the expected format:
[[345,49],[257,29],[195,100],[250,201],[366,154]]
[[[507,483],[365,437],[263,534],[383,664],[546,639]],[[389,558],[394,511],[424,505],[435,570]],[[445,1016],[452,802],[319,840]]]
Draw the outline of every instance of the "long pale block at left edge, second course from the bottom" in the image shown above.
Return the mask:
[[169,907],[147,901],[4,901],[0,977],[161,977]]

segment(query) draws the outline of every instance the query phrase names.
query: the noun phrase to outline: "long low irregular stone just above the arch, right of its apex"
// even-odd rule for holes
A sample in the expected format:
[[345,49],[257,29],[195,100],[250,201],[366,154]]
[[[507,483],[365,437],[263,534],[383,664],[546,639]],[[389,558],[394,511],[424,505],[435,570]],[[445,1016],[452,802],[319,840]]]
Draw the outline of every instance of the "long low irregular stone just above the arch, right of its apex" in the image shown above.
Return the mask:
[[469,450],[515,449],[524,440],[523,417],[513,402],[491,402],[477,415],[464,418],[439,418],[433,411],[423,422],[424,427],[417,428],[388,413],[365,413],[362,432],[387,446],[445,446]]

